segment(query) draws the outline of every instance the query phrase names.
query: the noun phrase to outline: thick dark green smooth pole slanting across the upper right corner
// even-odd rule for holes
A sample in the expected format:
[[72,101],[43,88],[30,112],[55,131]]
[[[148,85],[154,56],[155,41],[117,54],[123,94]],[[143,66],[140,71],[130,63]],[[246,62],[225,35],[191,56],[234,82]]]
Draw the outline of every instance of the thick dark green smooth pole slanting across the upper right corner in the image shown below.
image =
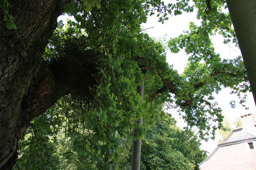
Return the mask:
[[256,101],[256,0],[226,0],[226,3]]

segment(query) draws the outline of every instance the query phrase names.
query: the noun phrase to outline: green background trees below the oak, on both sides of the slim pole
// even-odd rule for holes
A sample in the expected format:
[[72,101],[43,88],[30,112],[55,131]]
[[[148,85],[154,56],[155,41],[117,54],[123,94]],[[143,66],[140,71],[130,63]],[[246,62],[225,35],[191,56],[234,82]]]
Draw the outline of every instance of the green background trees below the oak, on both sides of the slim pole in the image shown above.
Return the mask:
[[[60,107],[61,103],[57,105]],[[19,159],[14,169],[104,169],[109,159],[114,160],[109,169],[113,166],[130,169],[132,135],[129,129],[123,137],[116,133],[103,142],[103,135],[90,129],[95,123],[84,124],[86,127],[76,124],[69,116],[78,117],[75,114],[78,110],[61,110],[56,106],[31,122],[20,141]],[[62,115],[63,112],[66,114]],[[206,156],[206,151],[200,150],[200,141],[192,131],[176,127],[170,115],[162,113],[161,117],[147,128],[143,138],[141,169],[193,169]],[[105,135],[110,136],[107,131]],[[116,143],[121,145],[114,146]]]

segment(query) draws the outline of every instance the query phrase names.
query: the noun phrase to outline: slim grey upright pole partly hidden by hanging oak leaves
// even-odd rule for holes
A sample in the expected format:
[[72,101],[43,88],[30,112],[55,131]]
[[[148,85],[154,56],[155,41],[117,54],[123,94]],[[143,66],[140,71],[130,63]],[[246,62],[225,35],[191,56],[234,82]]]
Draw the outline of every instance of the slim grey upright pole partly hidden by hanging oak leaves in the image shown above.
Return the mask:
[[[137,93],[142,96],[141,102],[143,102],[144,96],[144,80],[142,81],[141,86],[137,86]],[[140,155],[141,155],[141,141],[142,139],[134,140],[140,131],[140,126],[143,123],[143,118],[140,118],[138,121],[138,127],[133,130],[133,143],[132,143],[132,170],[140,170]]]

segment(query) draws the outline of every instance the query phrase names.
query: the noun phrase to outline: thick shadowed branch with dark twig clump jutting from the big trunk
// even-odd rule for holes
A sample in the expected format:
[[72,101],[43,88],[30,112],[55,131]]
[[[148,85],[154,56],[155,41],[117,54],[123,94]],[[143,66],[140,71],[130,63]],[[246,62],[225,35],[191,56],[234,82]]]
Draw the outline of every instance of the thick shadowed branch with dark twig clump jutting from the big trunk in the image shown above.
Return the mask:
[[57,102],[61,96],[82,92],[91,95],[90,89],[97,85],[98,71],[96,69],[96,54],[86,51],[83,55],[78,52],[73,55],[61,57],[48,65],[45,61],[40,67],[35,83],[30,86],[30,91],[22,100],[22,123],[26,128],[30,121],[44,113],[50,106]]

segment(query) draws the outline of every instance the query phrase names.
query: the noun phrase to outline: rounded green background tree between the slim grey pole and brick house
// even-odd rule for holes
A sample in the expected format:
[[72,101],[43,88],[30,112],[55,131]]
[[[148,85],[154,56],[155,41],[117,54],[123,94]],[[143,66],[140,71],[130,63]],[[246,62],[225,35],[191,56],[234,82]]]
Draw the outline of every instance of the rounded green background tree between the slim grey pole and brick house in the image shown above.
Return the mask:
[[[166,115],[147,128],[142,140],[141,169],[198,169],[198,163],[206,158],[200,149],[200,141],[191,130],[182,131],[176,121]],[[131,149],[127,147],[119,166],[130,169]],[[129,157],[128,154],[129,153]]]

